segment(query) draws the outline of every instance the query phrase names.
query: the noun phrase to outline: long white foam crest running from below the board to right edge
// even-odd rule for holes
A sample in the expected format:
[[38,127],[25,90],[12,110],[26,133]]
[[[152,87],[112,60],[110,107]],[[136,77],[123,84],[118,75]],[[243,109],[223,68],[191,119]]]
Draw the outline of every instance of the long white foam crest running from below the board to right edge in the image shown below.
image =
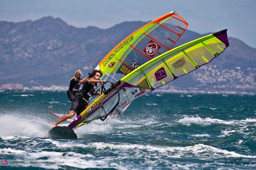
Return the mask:
[[[105,143],[105,142],[94,142],[94,143],[74,143],[74,142],[60,142],[52,139],[45,139],[47,141],[56,144],[58,147],[82,147],[82,148],[96,148],[96,149],[110,149],[110,150],[122,150],[125,152],[138,152],[139,150],[145,150],[146,152],[160,152],[168,157],[188,157],[191,153],[196,156],[204,157],[204,159],[218,158],[218,157],[246,157],[256,158],[256,156],[242,155],[233,151],[227,151],[224,149],[215,148],[205,144],[196,144],[194,146],[187,147],[167,147],[159,145],[143,145],[143,144],[130,144],[130,143]],[[130,151],[129,151],[130,150]],[[141,151],[140,151],[141,152]]]

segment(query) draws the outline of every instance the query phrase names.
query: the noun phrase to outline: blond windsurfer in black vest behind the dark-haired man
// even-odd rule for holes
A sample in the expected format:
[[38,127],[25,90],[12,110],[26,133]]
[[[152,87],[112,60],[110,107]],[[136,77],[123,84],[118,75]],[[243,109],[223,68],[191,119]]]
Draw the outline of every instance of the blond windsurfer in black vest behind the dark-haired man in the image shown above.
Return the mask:
[[76,70],[75,76],[72,77],[70,80],[70,85],[69,85],[69,89],[67,91],[67,95],[68,95],[68,99],[71,102],[74,99],[75,95],[77,94],[81,84],[84,83],[89,78],[89,76],[87,76],[86,78],[81,79],[80,77],[82,75],[83,74],[82,74],[81,70]]

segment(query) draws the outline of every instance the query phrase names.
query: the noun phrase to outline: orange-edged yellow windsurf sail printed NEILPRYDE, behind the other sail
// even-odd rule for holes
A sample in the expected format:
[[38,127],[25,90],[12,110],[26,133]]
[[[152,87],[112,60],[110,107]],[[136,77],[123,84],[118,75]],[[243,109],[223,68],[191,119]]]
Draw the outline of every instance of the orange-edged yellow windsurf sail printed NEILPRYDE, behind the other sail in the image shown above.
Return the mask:
[[[187,26],[187,21],[175,11],[159,17],[116,45],[95,69],[103,72],[101,80],[117,82],[149,60],[171,50]],[[105,88],[110,86],[107,84]],[[89,104],[96,98],[98,96],[92,97]]]

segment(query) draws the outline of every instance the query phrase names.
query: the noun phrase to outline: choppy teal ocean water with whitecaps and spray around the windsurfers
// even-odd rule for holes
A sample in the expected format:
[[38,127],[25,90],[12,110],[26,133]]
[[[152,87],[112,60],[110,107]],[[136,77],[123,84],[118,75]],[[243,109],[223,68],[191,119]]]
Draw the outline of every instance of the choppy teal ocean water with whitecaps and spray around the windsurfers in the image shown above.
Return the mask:
[[150,93],[78,139],[49,138],[47,111],[70,105],[66,92],[0,91],[0,169],[256,169],[256,95]]

